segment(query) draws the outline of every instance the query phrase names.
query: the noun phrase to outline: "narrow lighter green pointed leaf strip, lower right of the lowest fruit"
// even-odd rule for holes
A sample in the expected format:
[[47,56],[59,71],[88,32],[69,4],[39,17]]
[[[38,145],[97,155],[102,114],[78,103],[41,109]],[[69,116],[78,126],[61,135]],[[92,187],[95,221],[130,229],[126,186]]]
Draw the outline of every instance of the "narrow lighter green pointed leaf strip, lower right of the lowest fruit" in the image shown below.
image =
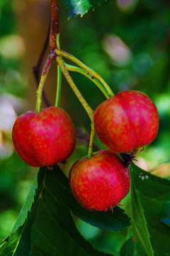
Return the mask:
[[134,181],[135,170],[131,168],[131,205],[132,205],[132,230],[137,241],[142,245],[143,249],[149,256],[153,256],[152,245],[149,240],[149,232],[144,211],[140,203],[140,197],[137,194],[137,189]]

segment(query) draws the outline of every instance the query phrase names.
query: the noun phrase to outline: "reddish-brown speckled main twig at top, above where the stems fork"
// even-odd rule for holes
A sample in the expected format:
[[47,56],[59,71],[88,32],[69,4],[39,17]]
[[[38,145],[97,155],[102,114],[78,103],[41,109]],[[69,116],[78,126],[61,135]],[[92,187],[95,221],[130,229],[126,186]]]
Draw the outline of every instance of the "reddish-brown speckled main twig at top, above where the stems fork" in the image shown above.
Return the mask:
[[51,0],[51,28],[50,28],[50,48],[55,50],[57,48],[56,36],[59,33],[59,20],[58,20],[58,1]]

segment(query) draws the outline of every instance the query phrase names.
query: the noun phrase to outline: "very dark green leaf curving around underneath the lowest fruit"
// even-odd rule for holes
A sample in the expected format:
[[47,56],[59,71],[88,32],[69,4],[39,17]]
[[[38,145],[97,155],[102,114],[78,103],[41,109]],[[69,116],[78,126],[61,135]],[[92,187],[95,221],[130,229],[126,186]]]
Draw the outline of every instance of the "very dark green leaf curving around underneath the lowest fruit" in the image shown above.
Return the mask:
[[[113,213],[111,213],[111,211],[105,213],[97,211],[91,212],[81,207],[70,191],[68,178],[64,176],[59,167],[56,168],[57,172],[52,174],[54,175],[53,179],[58,181],[57,186],[59,187],[59,190],[62,190],[62,195],[60,195],[61,202],[64,206],[67,206],[69,210],[72,210],[77,217],[97,228],[107,230],[122,230],[130,225],[130,218],[125,214],[125,211],[119,207],[115,207]],[[56,186],[56,183],[52,183],[47,179],[47,184],[48,183],[51,188],[52,186]],[[56,191],[55,188],[53,189]]]

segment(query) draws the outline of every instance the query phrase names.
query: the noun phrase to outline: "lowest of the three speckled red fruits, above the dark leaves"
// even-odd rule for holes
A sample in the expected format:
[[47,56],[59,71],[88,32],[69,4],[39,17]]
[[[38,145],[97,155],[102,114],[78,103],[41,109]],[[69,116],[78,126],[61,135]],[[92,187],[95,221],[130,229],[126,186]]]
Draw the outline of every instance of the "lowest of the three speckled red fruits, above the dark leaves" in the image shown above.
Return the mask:
[[101,150],[74,163],[69,172],[69,186],[81,206],[106,211],[128,194],[130,177],[116,154]]

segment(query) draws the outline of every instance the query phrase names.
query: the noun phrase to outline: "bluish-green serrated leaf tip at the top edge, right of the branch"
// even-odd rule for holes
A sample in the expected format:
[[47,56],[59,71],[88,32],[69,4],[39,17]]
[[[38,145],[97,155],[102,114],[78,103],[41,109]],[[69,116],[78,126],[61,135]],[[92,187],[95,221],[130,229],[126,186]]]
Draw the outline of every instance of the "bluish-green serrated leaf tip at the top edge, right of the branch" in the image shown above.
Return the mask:
[[67,6],[69,8],[69,17],[86,14],[87,11],[92,7],[101,5],[103,0],[67,0]]

